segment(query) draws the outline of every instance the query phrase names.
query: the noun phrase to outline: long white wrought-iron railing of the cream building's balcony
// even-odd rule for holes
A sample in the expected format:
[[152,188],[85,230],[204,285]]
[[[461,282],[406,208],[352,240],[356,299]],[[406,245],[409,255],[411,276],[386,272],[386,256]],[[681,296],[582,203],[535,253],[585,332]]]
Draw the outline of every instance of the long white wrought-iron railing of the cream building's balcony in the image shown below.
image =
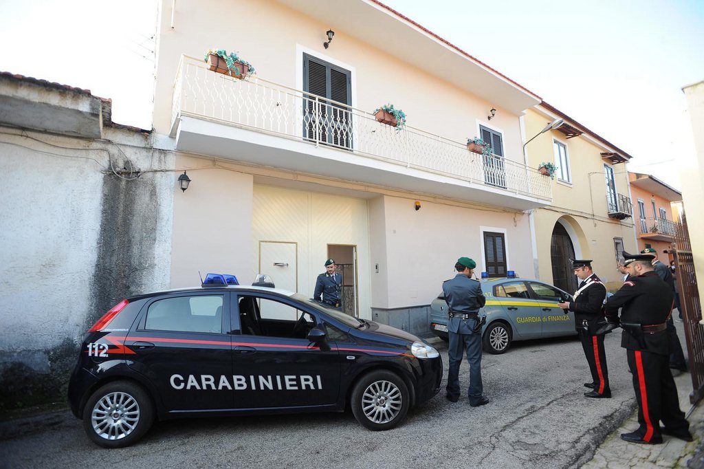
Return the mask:
[[414,127],[397,131],[374,115],[261,78],[239,80],[182,56],[173,90],[172,135],[180,115],[278,135],[428,173],[550,200],[550,178],[500,156]]

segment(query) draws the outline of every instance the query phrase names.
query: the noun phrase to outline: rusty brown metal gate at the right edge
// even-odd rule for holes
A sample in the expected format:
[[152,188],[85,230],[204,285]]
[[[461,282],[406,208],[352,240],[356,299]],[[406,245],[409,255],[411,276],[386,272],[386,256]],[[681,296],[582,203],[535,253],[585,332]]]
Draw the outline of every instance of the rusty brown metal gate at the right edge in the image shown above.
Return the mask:
[[686,215],[677,230],[672,243],[675,277],[679,291],[679,307],[684,323],[684,337],[687,342],[689,370],[692,375],[692,389],[689,394],[691,404],[696,404],[704,396],[704,327],[699,324],[702,308],[699,301],[697,277],[694,273],[692,247],[689,242]]

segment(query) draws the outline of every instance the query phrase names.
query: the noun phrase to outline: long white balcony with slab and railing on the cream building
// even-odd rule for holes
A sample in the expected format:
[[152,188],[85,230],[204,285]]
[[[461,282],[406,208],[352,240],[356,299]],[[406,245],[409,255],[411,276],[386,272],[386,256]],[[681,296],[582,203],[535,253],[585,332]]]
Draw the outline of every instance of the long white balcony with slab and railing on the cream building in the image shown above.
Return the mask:
[[519,210],[550,204],[550,178],[463,142],[261,78],[237,80],[182,56],[176,149],[248,164]]

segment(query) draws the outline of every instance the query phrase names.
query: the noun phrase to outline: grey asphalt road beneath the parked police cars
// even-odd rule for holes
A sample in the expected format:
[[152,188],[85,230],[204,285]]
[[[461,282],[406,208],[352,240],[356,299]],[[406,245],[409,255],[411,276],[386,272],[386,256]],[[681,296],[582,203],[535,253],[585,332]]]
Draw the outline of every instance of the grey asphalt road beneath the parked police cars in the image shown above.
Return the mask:
[[[517,342],[484,354],[490,404],[472,408],[466,395],[452,404],[442,389],[387,432],[365,430],[349,412],[171,420],[134,446],[108,450],[64,411],[0,424],[0,467],[578,467],[635,406],[620,334],[605,340],[612,399],[584,397],[589,368],[576,337]],[[446,377],[446,346],[436,346]],[[466,363],[460,380],[466,392]]]

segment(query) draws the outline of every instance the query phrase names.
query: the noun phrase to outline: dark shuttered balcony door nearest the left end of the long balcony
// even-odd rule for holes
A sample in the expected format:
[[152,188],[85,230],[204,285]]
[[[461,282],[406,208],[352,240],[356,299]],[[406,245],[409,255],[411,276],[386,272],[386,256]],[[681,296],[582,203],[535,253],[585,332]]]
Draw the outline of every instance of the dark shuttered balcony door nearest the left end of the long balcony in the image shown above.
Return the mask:
[[[303,54],[303,135],[306,139],[352,148],[351,73]],[[347,105],[347,106],[345,106]]]

